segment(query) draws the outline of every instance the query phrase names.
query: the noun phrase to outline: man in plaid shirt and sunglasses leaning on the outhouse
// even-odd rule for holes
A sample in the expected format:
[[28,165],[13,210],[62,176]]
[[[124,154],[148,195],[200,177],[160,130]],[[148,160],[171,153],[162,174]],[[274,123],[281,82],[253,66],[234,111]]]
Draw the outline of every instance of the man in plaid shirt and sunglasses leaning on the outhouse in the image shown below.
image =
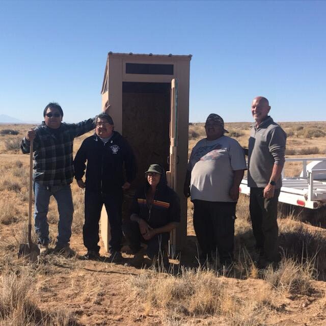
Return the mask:
[[[108,110],[107,104],[105,110]],[[74,175],[73,139],[94,129],[94,120],[88,119],[73,124],[62,123],[63,111],[58,103],[47,104],[43,116],[42,124],[26,132],[21,142],[22,152],[29,153],[30,142],[33,141],[35,231],[38,235],[40,253],[44,254],[49,243],[48,205],[50,197],[55,197],[59,211],[55,251],[71,254],[69,240],[73,215],[70,188]]]

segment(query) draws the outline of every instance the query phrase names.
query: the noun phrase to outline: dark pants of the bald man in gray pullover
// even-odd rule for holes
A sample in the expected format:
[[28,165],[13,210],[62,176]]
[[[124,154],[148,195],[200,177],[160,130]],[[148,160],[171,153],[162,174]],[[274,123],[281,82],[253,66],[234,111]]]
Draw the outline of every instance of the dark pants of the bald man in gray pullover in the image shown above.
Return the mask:
[[256,248],[268,261],[277,260],[278,233],[277,204],[280,189],[275,189],[274,197],[265,199],[264,188],[250,188],[250,217]]

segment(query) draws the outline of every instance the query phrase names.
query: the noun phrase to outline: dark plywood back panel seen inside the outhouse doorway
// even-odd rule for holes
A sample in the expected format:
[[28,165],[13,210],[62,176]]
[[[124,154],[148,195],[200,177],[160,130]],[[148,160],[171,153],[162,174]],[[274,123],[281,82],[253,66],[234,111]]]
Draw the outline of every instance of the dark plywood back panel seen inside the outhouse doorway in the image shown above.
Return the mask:
[[133,187],[143,184],[144,172],[153,163],[168,169],[170,92],[123,93],[123,136],[132,146],[138,165]]

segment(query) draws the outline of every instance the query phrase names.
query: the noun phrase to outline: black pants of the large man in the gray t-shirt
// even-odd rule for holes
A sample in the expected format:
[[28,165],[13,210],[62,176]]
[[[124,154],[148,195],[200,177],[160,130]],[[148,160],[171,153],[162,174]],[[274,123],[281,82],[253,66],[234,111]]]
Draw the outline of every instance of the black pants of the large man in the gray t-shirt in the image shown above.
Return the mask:
[[194,228],[202,255],[218,250],[221,264],[233,260],[236,202],[194,200]]

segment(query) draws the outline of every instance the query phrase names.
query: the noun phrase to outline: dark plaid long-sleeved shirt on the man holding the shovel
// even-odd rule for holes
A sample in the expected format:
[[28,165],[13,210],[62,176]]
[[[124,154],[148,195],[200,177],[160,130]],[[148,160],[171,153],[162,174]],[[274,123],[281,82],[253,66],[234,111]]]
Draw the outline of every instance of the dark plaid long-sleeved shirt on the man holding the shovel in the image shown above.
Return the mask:
[[[44,122],[37,126],[33,143],[33,180],[47,186],[70,184],[74,176],[73,140],[94,129],[93,122],[94,119],[62,123],[58,129],[51,129]],[[21,151],[24,154],[30,152],[30,142],[25,137]]]

